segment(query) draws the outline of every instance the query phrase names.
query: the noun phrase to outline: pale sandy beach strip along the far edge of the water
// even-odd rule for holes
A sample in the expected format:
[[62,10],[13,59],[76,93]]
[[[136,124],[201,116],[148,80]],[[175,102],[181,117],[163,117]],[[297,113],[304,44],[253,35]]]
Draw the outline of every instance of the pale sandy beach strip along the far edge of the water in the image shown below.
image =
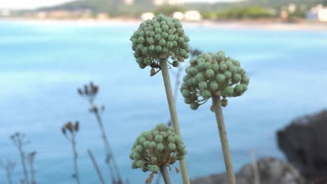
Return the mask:
[[[81,26],[106,26],[106,25],[138,25],[140,19],[108,19],[108,20],[54,20],[54,19],[29,19],[21,17],[3,18],[0,21],[8,22],[34,22],[34,23],[64,23],[79,24]],[[220,29],[259,29],[259,30],[276,30],[276,31],[327,31],[327,22],[262,22],[255,20],[241,21],[212,21],[203,20],[201,22],[184,22],[187,26],[204,26]]]

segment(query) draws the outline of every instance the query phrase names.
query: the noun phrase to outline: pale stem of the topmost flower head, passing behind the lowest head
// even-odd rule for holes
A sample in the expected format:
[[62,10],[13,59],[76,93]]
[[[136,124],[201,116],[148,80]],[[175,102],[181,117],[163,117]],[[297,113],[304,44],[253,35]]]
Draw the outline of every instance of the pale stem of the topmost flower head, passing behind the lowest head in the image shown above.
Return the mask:
[[[173,128],[175,129],[175,132],[177,133],[177,135],[180,135],[180,125],[178,124],[175,100],[174,100],[174,96],[173,96],[173,90],[171,89],[167,61],[160,60],[160,66],[161,66],[161,71],[162,71],[163,83],[164,83],[165,89],[166,89],[168,107],[169,107],[169,112],[170,112],[170,119],[173,124]],[[182,137],[182,136],[180,135],[180,137]],[[180,160],[180,172],[182,174],[183,184],[189,184],[189,176],[187,174],[187,166],[186,166],[186,162],[184,159]]]

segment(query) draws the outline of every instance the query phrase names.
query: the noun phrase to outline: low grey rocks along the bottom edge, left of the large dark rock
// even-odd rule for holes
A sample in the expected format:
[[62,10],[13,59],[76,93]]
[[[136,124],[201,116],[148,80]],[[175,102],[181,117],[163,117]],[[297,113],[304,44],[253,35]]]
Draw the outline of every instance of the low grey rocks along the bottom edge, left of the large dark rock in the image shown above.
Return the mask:
[[[304,184],[305,181],[300,172],[291,164],[276,160],[275,158],[262,158],[256,162],[260,184]],[[235,174],[238,184],[255,184],[253,164],[246,164],[238,174]],[[214,174],[212,176],[198,178],[191,184],[228,184],[226,174]]]

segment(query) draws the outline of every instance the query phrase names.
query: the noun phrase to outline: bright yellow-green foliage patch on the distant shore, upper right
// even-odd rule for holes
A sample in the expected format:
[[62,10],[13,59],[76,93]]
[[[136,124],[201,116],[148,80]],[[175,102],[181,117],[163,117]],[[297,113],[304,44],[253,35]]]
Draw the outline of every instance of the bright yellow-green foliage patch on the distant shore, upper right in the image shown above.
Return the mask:
[[267,18],[273,17],[273,13],[260,6],[251,6],[245,8],[233,8],[217,13],[217,18],[221,19],[243,19],[243,18]]

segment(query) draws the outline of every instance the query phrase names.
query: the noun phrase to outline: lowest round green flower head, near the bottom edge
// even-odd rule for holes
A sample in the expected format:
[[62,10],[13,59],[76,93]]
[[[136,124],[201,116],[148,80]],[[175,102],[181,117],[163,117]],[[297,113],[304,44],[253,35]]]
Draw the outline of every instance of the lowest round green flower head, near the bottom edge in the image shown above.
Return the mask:
[[157,174],[159,167],[170,166],[176,160],[182,160],[187,150],[174,129],[160,123],[150,131],[143,132],[136,139],[129,158],[132,168]]

